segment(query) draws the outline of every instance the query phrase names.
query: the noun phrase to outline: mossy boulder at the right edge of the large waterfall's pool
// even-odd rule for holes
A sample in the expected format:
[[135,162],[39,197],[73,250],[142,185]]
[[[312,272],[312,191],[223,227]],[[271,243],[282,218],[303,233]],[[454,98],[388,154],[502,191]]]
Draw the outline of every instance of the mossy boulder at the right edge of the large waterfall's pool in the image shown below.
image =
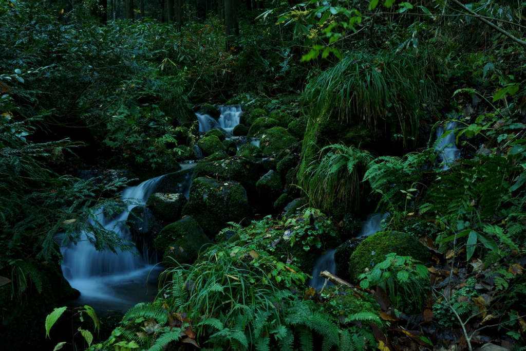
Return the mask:
[[177,266],[177,263],[193,264],[199,250],[211,244],[199,223],[191,216],[167,225],[155,239],[155,249],[163,256],[166,267]]

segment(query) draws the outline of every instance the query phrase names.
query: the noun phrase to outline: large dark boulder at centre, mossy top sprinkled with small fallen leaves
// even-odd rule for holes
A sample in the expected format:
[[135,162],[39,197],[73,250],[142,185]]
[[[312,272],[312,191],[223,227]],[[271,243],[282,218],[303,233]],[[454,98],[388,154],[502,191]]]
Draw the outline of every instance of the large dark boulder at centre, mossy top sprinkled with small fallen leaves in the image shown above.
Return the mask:
[[206,235],[215,236],[229,226],[228,222],[246,221],[251,211],[247,192],[240,184],[198,177],[190,188],[183,214],[193,216]]

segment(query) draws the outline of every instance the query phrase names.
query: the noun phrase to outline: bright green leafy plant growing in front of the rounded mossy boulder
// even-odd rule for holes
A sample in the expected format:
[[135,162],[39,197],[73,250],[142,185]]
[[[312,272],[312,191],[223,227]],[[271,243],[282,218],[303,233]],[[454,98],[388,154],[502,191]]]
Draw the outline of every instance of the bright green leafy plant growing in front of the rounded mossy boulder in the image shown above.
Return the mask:
[[416,262],[410,256],[387,254],[383,262],[359,276],[360,287],[379,285],[397,308],[419,310],[429,288],[429,272]]

